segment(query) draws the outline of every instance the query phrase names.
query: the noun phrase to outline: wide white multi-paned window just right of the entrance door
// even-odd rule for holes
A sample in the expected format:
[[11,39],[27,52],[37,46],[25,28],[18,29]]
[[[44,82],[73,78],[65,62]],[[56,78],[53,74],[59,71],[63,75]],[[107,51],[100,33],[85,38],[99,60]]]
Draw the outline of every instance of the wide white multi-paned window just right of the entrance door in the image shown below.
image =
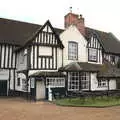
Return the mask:
[[65,78],[64,77],[47,77],[46,78],[46,87],[52,88],[61,88],[65,87]]

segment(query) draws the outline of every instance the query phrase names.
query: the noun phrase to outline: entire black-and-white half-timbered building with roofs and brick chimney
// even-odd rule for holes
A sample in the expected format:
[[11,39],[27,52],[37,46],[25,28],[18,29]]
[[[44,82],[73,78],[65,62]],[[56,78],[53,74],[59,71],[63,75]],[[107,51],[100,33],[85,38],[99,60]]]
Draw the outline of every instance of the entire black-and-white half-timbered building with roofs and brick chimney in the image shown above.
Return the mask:
[[0,95],[39,100],[120,89],[120,41],[68,13],[65,29],[0,19]]

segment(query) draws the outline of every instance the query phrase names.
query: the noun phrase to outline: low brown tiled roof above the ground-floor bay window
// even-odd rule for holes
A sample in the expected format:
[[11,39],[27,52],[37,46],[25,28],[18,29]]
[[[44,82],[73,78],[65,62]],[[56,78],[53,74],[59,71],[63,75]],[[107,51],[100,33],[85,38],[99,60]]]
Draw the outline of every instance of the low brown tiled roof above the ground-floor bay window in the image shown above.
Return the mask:
[[59,68],[59,71],[66,72],[97,72],[98,77],[120,78],[120,69],[109,62],[104,64],[92,64],[87,62],[73,62],[64,67]]

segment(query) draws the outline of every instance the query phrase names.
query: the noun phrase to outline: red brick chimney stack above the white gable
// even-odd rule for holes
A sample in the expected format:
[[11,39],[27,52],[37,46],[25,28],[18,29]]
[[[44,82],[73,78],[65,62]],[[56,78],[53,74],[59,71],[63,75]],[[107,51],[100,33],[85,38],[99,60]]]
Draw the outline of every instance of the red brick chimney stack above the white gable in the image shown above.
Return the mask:
[[82,15],[77,15],[72,13],[68,13],[64,17],[64,26],[65,28],[69,27],[70,25],[75,25],[80,33],[85,36],[85,24],[84,24],[84,18]]

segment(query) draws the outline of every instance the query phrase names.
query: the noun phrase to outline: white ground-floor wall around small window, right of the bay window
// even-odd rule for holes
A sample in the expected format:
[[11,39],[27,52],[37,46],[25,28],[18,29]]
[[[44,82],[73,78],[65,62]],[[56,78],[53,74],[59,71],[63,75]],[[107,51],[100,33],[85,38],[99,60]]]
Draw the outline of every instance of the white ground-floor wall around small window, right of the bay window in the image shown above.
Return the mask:
[[[115,90],[116,89],[116,80],[111,79],[109,81],[109,89],[110,90]],[[91,90],[108,90],[107,87],[98,87],[98,80],[97,80],[97,73],[91,73]]]

